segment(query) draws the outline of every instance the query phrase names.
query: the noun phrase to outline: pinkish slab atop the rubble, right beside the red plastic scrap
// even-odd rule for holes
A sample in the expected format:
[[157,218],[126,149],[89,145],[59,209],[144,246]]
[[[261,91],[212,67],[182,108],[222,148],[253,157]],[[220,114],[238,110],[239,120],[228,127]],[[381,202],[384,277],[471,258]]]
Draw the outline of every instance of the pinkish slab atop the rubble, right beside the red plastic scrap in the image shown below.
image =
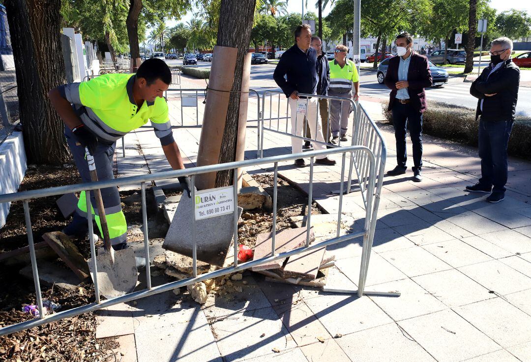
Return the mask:
[[[254,247],[253,260],[271,255],[271,246],[273,242],[272,232],[264,232],[256,236],[256,246]],[[310,243],[315,240],[313,230],[310,230]],[[306,244],[306,228],[284,229],[278,231],[275,236],[275,253],[284,253]],[[279,259],[272,262],[267,262],[257,266],[253,266],[253,271],[278,269],[286,259]]]

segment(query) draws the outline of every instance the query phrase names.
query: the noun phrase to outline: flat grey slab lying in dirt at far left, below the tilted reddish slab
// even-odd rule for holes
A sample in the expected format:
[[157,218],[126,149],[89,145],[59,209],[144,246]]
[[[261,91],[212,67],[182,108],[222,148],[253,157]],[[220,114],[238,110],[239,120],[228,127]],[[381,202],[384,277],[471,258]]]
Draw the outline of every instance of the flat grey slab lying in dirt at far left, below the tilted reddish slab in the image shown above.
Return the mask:
[[[70,270],[44,260],[39,260],[37,266],[39,268],[39,280],[42,285],[49,287],[55,285],[63,289],[78,290],[79,280]],[[19,274],[33,280],[31,265],[24,266],[19,271]]]

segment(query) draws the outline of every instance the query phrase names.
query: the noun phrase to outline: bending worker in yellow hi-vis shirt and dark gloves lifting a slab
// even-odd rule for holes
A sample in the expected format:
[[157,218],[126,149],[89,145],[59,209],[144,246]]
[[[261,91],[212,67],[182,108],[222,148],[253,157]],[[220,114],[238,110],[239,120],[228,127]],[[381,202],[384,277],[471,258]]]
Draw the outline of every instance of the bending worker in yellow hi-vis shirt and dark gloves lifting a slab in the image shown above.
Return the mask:
[[[162,94],[172,82],[164,61],[148,59],[136,74],[105,74],[88,82],[61,85],[48,92],[52,105],[65,123],[65,136],[83,182],[90,182],[85,147],[95,159],[99,180],[113,179],[113,155],[116,141],[128,132],[145,125],[148,119],[160,140],[162,150],[175,169],[184,164],[173,139],[168,105]],[[190,180],[179,177],[190,196]],[[115,250],[126,247],[127,224],[117,187],[101,189],[109,237]],[[92,214],[101,232],[94,193]],[[73,220],[63,230],[70,237],[84,237],[88,232],[87,201],[82,192]]]

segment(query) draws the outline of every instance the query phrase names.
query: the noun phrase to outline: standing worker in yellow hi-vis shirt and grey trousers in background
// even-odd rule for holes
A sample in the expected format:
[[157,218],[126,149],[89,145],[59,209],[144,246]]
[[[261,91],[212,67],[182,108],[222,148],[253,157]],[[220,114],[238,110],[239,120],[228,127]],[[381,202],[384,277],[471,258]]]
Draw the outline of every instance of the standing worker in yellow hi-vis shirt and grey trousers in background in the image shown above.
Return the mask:
[[[330,85],[328,95],[332,97],[352,98],[358,100],[359,76],[356,64],[347,59],[348,48],[338,45],[334,53],[334,60],[330,61]],[[354,88],[354,89],[353,89]],[[353,92],[354,90],[354,92]],[[332,143],[347,141],[348,117],[352,112],[350,102],[330,100],[330,128]],[[341,139],[339,139],[341,136]]]

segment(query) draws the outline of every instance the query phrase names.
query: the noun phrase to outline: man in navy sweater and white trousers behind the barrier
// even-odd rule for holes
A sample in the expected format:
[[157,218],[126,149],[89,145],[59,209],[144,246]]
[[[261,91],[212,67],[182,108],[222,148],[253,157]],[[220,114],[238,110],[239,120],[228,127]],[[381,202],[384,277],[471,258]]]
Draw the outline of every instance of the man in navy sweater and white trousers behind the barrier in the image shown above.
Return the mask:
[[[304,117],[306,116],[312,132],[314,150],[325,149],[321,125],[317,122],[317,98],[299,96],[299,94],[316,94],[319,82],[316,71],[317,52],[310,47],[312,31],[307,24],[299,25],[295,29],[295,45],[280,57],[273,79],[289,99],[292,119],[292,152],[301,153],[305,131]],[[313,133],[317,130],[316,134]],[[336,161],[328,157],[316,159],[320,165],[335,165]],[[303,158],[295,160],[295,166],[304,167]]]

